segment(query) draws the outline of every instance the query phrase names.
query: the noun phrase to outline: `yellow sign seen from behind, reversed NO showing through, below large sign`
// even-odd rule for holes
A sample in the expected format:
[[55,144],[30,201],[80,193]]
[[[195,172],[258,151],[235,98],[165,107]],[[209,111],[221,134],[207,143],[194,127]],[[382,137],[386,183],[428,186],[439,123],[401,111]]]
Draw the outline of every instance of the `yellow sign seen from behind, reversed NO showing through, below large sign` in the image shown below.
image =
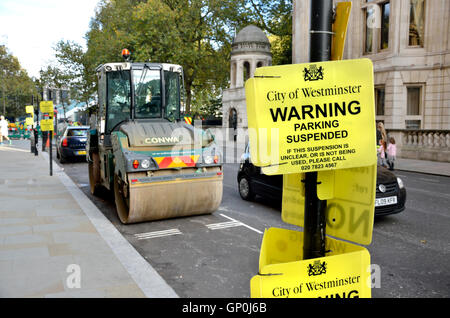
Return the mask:
[[[372,242],[376,178],[376,164],[318,172],[317,196],[327,200],[327,235],[365,245]],[[301,173],[283,176],[281,212],[284,222],[301,227],[305,219],[303,179]]]

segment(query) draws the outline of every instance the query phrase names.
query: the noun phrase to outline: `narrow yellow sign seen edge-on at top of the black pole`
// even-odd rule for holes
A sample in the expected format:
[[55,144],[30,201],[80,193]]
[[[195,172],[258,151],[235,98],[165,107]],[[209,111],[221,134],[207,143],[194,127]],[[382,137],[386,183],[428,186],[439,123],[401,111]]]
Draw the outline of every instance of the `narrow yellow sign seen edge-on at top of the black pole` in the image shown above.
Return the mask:
[[334,34],[331,41],[331,60],[333,61],[342,60],[351,9],[351,2],[339,2],[336,4],[336,18],[333,22]]

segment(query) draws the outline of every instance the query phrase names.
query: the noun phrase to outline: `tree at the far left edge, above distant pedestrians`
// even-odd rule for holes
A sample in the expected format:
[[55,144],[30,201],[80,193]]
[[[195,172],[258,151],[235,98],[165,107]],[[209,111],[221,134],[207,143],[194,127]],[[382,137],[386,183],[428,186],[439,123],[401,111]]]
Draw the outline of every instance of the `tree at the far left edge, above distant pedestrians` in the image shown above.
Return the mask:
[[8,117],[25,115],[25,105],[37,96],[33,81],[4,45],[0,45],[0,93],[0,113]]

